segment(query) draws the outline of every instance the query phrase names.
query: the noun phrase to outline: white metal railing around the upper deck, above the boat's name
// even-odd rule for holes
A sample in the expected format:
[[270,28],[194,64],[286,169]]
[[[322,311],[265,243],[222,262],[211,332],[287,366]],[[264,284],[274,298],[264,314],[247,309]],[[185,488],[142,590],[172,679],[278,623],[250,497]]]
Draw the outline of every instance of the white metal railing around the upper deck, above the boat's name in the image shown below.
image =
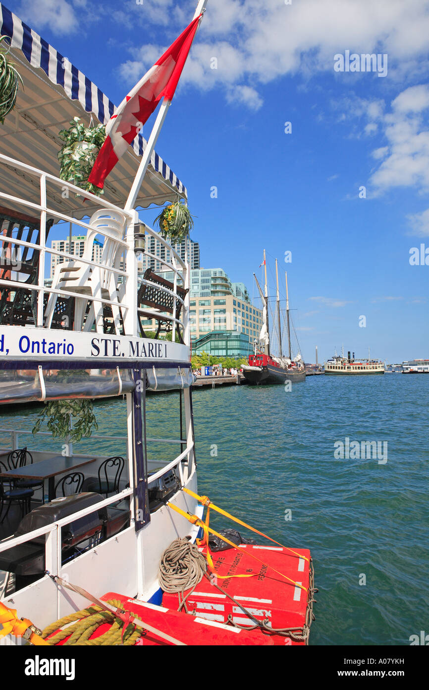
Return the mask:
[[[6,237],[6,235],[3,237],[0,235],[0,242],[3,242],[3,244],[6,245],[14,245],[14,246],[22,246],[22,247],[27,247],[29,249],[32,249],[33,252],[36,252],[39,254],[39,275],[38,275],[38,280],[37,282],[34,282],[32,284],[29,283],[24,283],[19,281],[19,270],[17,268],[11,268],[11,271],[14,271],[15,273],[18,274],[18,279],[15,281],[12,281],[10,279],[0,279],[0,288],[1,286],[6,286],[9,288],[23,288],[25,290],[31,290],[34,291],[37,295],[37,300],[36,300],[36,326],[39,326],[40,328],[44,326],[45,320],[44,320],[44,313],[43,313],[43,296],[46,294],[48,295],[59,295],[59,296],[64,296],[64,297],[75,297],[75,298],[85,298],[88,299],[92,304],[94,304],[94,308],[96,304],[103,306],[103,305],[109,305],[116,308],[121,308],[123,310],[123,324],[125,328],[125,335],[137,335],[137,314],[133,314],[134,310],[136,310],[136,292],[138,288],[138,282],[137,282],[137,263],[136,263],[136,258],[134,256],[134,226],[138,224],[138,214],[136,211],[127,211],[124,210],[123,208],[119,208],[118,206],[111,204],[109,201],[106,201],[105,199],[100,199],[99,197],[96,197],[95,195],[92,195],[89,192],[85,192],[81,188],[70,184],[70,182],[66,182],[62,179],[59,179],[59,177],[55,177],[54,175],[50,175],[48,172],[43,172],[42,170],[39,170],[38,168],[33,168],[32,166],[29,166],[25,163],[22,163],[21,161],[17,161],[15,159],[12,159],[8,156],[5,156],[3,154],[0,154],[0,165],[5,165],[7,166],[12,172],[17,172],[17,170],[21,170],[22,172],[25,172],[27,176],[38,178],[39,179],[39,187],[40,187],[40,203],[36,204],[34,201],[29,201],[28,199],[25,199],[23,197],[14,197],[12,195],[3,193],[0,191],[0,199],[4,199],[5,201],[10,201],[15,207],[16,206],[23,206],[23,210],[31,210],[35,215],[38,215],[40,217],[40,244],[35,244],[33,242],[25,242],[25,240],[22,239],[17,239],[14,237]],[[55,210],[54,208],[50,208],[48,206],[48,201],[47,201],[47,182],[50,185],[53,185],[54,187],[60,188],[61,192],[64,193],[66,191],[67,196],[70,197],[71,195],[81,195],[84,199],[88,199],[92,202],[92,206],[96,206],[96,208],[99,208],[101,210],[106,210],[106,213],[108,213],[109,210],[112,210],[116,213],[120,213],[124,219],[125,219],[125,226],[124,226],[124,234],[123,237],[114,237],[112,233],[109,232],[108,228],[99,227],[98,225],[96,228],[92,228],[91,224],[87,221],[84,221],[82,219],[77,219],[74,218],[70,215],[67,215],[64,211],[59,211]],[[90,230],[94,232],[94,229],[96,230],[96,233],[98,235],[101,235],[102,237],[105,238],[105,240],[114,240],[116,244],[118,245],[118,249],[116,250],[117,252],[117,258],[118,258],[118,252],[121,252],[121,257],[122,257],[122,264],[123,268],[118,268],[118,266],[113,266],[113,265],[107,265],[103,264],[101,262],[96,262],[92,261],[90,259],[86,259],[84,257],[79,257],[77,255],[70,254],[69,252],[49,248],[46,246],[46,221],[47,217],[54,217],[54,219],[57,220],[63,220],[63,221],[68,221],[70,224],[75,224],[77,226],[80,226],[83,228],[83,230],[88,233]],[[150,253],[145,253],[148,257],[154,258],[157,261],[160,261],[163,265],[165,265],[169,270],[174,272],[174,290],[169,290],[165,286],[159,285],[159,284],[154,284],[151,282],[147,282],[148,284],[154,285],[158,290],[161,290],[167,294],[170,295],[170,297],[173,297],[173,310],[171,315],[169,314],[163,314],[163,320],[167,320],[171,322],[171,324],[174,324],[175,326],[181,326],[183,328],[183,332],[185,335],[185,343],[189,344],[189,293],[187,293],[187,296],[185,297],[185,300],[180,297],[177,293],[177,287],[178,287],[178,278],[180,279],[180,282],[182,283],[183,286],[189,287],[189,266],[187,262],[184,262],[180,255],[174,250],[174,248],[167,242],[166,239],[164,239],[161,235],[155,232],[152,228],[147,226],[145,224],[145,234],[150,236],[150,237],[155,237],[156,241],[159,242],[161,245],[163,245],[166,250],[169,251],[169,255],[171,257],[171,262],[167,262],[164,259],[160,259],[160,257],[155,257],[154,255],[151,255]],[[69,248],[70,249],[70,248]],[[45,281],[45,255],[54,255],[56,257],[61,257],[63,259],[63,262],[70,262],[73,261],[77,266],[87,266],[88,264],[90,266],[93,266],[94,268],[98,268],[100,270],[105,271],[106,276],[110,276],[111,274],[120,277],[123,280],[123,285],[121,286],[121,298],[119,299],[107,299],[107,297],[102,297],[101,296],[101,290],[98,290],[97,294],[94,294],[92,290],[89,292],[85,291],[85,294],[75,292],[73,289],[70,290],[65,290],[63,288],[56,289],[54,287],[48,288],[45,286],[44,281]],[[61,262],[61,263],[63,263]],[[113,262],[112,262],[113,263]],[[132,269],[132,270],[130,270]],[[73,286],[71,286],[73,287]],[[116,285],[116,287],[118,287]],[[176,319],[176,304],[177,302],[180,302],[183,306],[183,319]],[[137,310],[136,310],[137,311]],[[145,309],[138,309],[138,311],[148,311]],[[131,313],[129,313],[131,312]],[[160,313],[151,311],[151,317],[152,318],[158,318],[160,316]],[[75,325],[75,330],[79,330],[81,328],[82,324],[79,324],[79,326]]]

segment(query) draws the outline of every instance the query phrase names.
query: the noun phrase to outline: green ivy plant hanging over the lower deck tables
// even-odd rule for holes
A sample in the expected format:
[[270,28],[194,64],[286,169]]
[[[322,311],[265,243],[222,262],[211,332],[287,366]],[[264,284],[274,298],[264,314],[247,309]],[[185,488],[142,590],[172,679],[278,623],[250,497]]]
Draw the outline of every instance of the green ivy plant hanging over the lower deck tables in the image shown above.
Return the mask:
[[[59,371],[57,373],[59,381],[66,386],[73,386],[76,378],[89,378],[87,372]],[[85,398],[70,398],[61,400],[50,400],[45,402],[43,410],[39,413],[39,419],[32,429],[33,435],[40,431],[42,423],[47,420],[49,431],[52,437],[70,440],[71,443],[79,443],[83,437],[89,437],[92,429],[98,429],[96,417],[94,415],[94,404],[92,400]]]

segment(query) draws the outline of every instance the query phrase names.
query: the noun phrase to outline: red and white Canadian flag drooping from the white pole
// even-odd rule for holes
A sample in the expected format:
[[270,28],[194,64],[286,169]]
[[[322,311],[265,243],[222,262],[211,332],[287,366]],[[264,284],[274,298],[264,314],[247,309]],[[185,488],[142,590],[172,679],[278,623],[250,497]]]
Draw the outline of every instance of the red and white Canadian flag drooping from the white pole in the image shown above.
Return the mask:
[[107,122],[105,142],[88,177],[96,187],[103,189],[107,175],[142,130],[160,100],[167,98],[171,101],[173,98],[201,17],[202,14],[193,19],[176,41],[171,43]]

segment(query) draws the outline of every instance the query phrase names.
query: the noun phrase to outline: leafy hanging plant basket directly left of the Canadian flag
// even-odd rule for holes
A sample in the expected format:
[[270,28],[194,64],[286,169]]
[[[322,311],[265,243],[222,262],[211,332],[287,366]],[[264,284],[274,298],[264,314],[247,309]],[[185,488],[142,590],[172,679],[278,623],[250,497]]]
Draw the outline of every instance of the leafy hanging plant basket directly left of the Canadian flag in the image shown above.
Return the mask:
[[59,136],[65,142],[58,154],[60,177],[85,192],[101,195],[103,190],[88,182],[88,177],[90,177],[98,151],[104,144],[105,126],[85,127],[79,117],[74,117],[70,125],[71,127],[67,130],[59,132]]

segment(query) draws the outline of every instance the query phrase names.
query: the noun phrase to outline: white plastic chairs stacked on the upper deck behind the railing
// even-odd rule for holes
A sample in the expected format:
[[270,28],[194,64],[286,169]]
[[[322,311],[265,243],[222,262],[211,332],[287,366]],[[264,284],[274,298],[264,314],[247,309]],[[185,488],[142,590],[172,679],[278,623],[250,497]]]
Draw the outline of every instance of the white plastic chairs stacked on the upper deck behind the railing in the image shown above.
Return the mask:
[[[123,240],[125,234],[125,215],[113,210],[100,209],[90,219],[90,230],[87,231],[87,242],[83,259],[92,261],[92,250],[96,235],[104,236],[101,259],[98,263],[107,267],[120,268],[124,247],[118,240]],[[84,331],[90,331],[96,323],[97,333],[103,333],[103,303],[99,299],[109,299],[118,302],[116,273],[107,268],[99,268],[91,264],[84,264],[79,259],[67,263],[57,264],[55,267],[52,288],[79,293],[74,305],[74,331],[82,331],[83,319],[87,308],[87,297],[93,297],[90,312],[87,315]],[[57,295],[51,293],[46,305],[45,328],[50,328],[54,316]],[[119,333],[121,314],[118,306],[112,305],[115,332]]]

